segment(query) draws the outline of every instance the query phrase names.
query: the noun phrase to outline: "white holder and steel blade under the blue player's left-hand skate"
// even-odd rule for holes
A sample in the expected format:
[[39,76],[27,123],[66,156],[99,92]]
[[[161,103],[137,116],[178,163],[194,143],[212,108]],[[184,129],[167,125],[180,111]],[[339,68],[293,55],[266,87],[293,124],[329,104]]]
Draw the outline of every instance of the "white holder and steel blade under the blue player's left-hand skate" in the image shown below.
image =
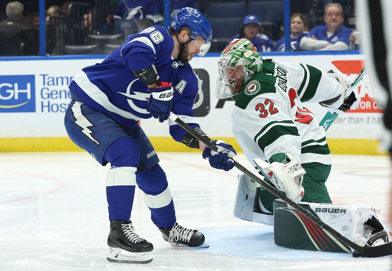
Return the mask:
[[129,252],[117,247],[109,247],[106,259],[112,263],[148,264],[152,262],[149,252]]

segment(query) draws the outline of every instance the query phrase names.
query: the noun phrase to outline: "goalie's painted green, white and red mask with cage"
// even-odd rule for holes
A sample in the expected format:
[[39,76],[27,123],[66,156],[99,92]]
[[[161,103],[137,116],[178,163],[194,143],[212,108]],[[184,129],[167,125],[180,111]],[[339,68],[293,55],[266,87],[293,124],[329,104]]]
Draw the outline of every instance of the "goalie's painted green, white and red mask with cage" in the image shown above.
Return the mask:
[[215,96],[225,99],[237,95],[252,75],[263,71],[261,54],[247,39],[233,39],[221,53]]

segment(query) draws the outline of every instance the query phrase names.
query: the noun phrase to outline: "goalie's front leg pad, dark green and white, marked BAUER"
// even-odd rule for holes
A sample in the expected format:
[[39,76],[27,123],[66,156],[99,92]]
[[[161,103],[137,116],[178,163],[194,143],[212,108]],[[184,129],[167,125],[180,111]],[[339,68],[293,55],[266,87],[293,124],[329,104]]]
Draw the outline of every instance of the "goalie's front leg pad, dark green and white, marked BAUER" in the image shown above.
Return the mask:
[[[307,202],[299,205],[355,244],[364,246],[368,242],[384,244],[390,241],[389,236],[385,238],[386,231],[371,206]],[[303,250],[351,252],[350,247],[338,241],[299,211],[289,208],[282,200],[275,200],[273,206],[276,245]],[[291,231],[287,231],[288,228]]]

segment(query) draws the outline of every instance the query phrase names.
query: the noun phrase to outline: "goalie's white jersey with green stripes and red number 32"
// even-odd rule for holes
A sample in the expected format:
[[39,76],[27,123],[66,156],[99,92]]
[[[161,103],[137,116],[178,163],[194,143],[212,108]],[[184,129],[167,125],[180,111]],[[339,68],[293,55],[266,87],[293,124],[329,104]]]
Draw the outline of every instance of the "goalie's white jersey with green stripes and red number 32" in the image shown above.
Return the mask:
[[248,161],[282,162],[290,153],[300,163],[331,164],[325,131],[302,102],[343,102],[342,84],[310,65],[271,59],[263,65],[264,73],[245,82],[232,111],[233,133]]

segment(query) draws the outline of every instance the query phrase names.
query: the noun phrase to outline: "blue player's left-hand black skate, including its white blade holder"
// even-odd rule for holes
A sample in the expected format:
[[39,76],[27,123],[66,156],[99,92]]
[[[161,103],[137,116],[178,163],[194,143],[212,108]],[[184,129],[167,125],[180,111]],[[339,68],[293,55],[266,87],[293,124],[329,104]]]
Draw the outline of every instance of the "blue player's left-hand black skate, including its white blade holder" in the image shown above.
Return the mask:
[[111,220],[107,245],[110,247],[106,258],[109,262],[147,264],[152,261],[149,253],[152,244],[135,233],[131,221]]

